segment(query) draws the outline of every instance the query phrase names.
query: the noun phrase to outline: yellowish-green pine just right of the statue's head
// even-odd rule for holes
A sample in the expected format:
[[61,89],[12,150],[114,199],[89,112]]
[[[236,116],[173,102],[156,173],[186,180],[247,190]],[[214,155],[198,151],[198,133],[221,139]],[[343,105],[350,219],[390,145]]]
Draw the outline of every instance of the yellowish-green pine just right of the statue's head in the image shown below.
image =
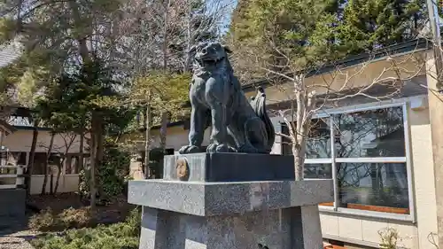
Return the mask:
[[[334,58],[337,46],[336,32],[339,22],[336,0],[244,0],[240,1],[233,14],[227,41],[237,51],[234,66],[242,82],[258,78],[248,72],[253,65],[248,51],[263,51],[260,60],[278,67],[284,63],[279,48],[301,67],[323,64]],[[277,68],[273,68],[277,70]],[[243,77],[242,77],[243,76]]]

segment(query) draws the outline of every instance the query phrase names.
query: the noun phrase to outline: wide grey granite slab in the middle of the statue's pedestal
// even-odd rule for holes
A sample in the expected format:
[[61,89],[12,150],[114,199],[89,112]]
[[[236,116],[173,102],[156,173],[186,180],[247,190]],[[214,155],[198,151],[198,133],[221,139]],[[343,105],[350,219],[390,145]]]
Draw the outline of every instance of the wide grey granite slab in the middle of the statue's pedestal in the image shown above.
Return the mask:
[[128,202],[198,216],[312,206],[333,201],[332,180],[238,183],[130,181]]

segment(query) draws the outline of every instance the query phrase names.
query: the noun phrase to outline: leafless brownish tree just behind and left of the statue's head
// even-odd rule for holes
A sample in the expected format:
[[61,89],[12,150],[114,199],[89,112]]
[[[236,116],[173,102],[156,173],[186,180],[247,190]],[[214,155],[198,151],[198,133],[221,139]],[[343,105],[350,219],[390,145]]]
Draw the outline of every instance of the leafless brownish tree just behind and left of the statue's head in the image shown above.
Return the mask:
[[[120,25],[123,35],[119,43],[127,55],[129,76],[136,79],[154,71],[163,74],[189,72],[192,47],[220,37],[223,21],[233,6],[233,0],[128,1],[122,8],[126,17]],[[164,152],[167,123],[172,118],[172,113],[165,108],[151,105],[152,97],[159,96],[158,89],[153,87],[144,97],[144,103],[137,103],[144,106],[146,177],[149,175],[150,129],[155,124],[153,113],[159,116],[160,148]]]

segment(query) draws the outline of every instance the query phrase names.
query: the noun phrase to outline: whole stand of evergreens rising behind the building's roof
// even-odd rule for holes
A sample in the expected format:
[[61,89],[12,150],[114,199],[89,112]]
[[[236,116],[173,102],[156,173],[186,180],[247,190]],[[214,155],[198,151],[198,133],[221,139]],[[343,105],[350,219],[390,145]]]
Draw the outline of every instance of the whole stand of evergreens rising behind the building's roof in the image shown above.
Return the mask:
[[[426,19],[424,0],[240,0],[227,42],[236,48],[233,66],[242,82],[262,78],[248,51],[281,66],[280,52],[300,68],[416,38]],[[292,60],[292,59],[291,59]]]

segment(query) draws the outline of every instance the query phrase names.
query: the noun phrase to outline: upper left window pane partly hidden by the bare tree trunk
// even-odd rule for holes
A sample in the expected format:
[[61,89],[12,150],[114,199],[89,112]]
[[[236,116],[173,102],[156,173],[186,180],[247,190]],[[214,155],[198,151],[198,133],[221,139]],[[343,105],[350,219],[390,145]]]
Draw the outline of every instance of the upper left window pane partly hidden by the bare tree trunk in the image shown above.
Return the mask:
[[[307,135],[307,159],[327,159],[330,158],[330,118],[312,119]],[[289,135],[289,129],[285,124],[282,132]],[[291,141],[282,139],[282,151],[284,155],[291,155]]]

